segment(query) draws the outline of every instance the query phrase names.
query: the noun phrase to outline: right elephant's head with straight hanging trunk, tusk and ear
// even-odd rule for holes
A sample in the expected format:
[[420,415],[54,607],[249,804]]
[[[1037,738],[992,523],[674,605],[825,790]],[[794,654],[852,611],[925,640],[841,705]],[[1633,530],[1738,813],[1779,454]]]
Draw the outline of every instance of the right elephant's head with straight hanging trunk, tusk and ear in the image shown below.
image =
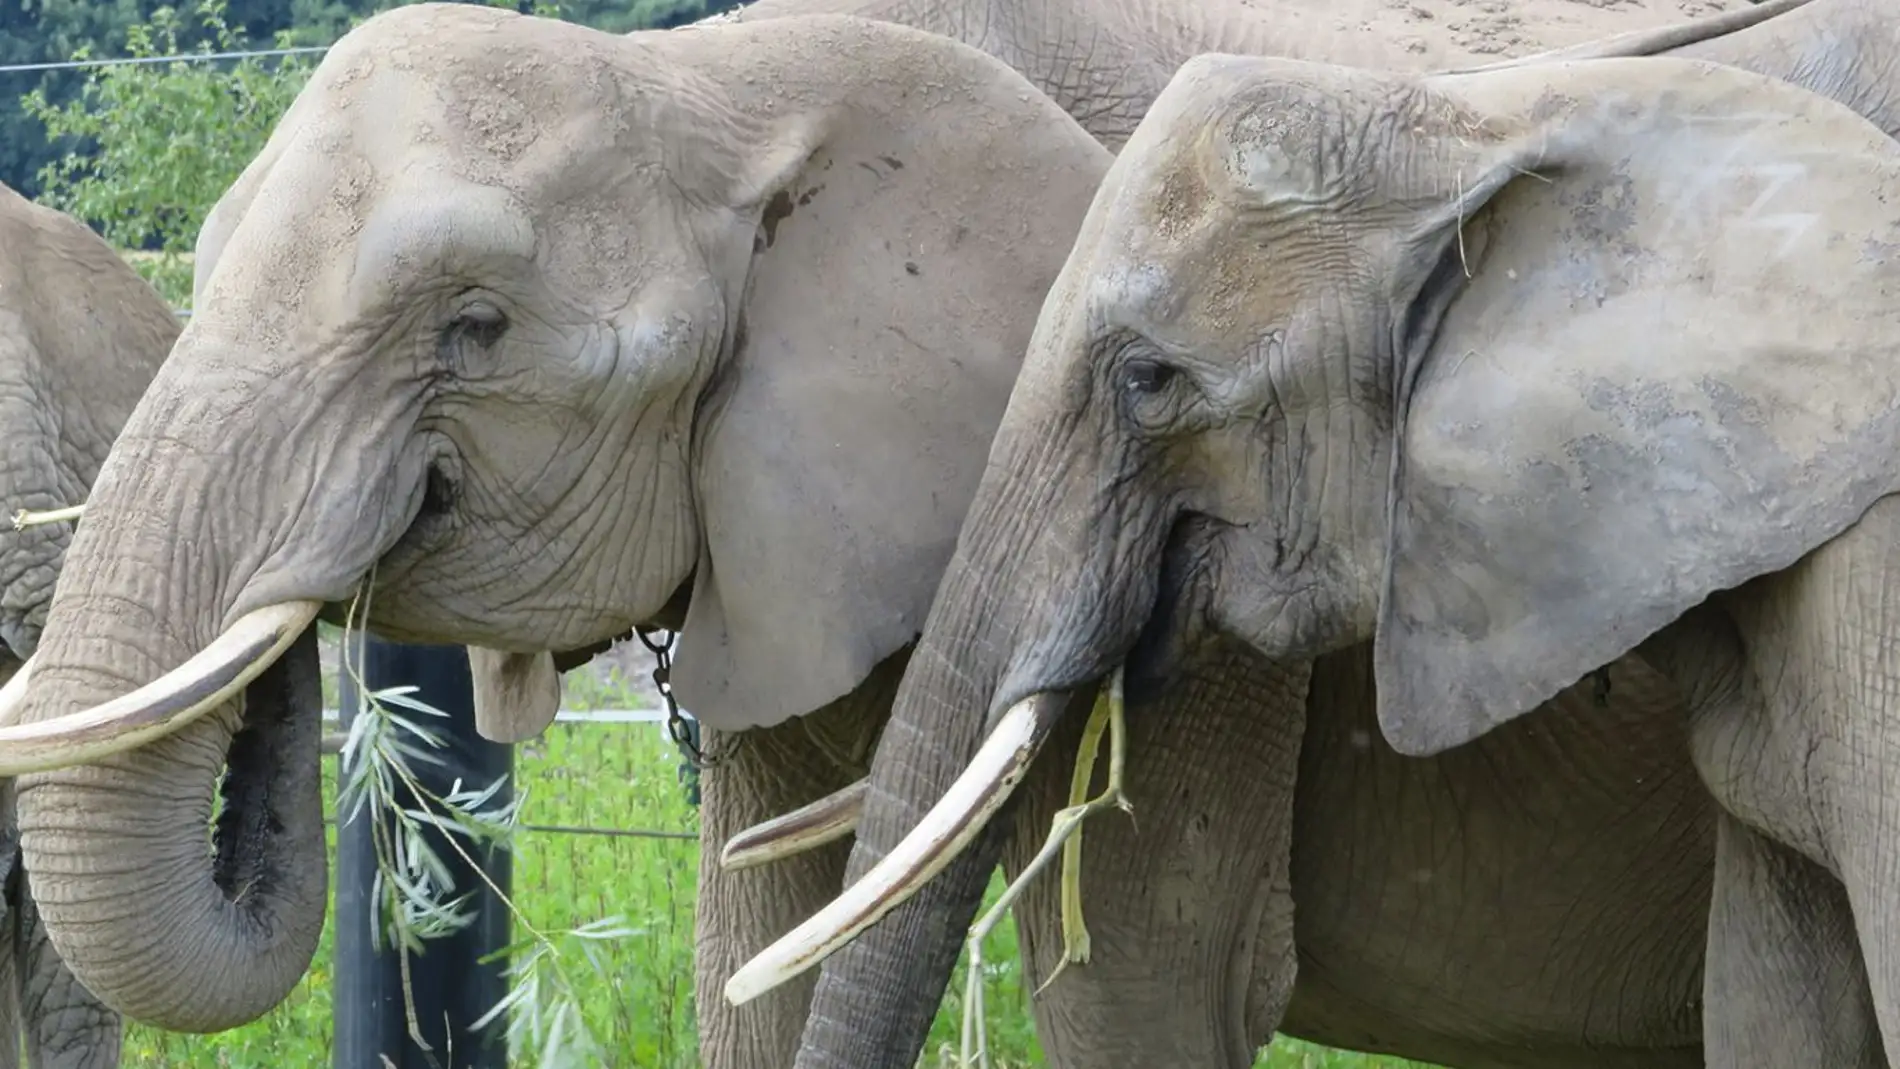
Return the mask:
[[800,1065],[910,1065],[834,1022],[935,1003],[994,853],[950,858],[1157,604],[1370,640],[1383,733],[1434,754],[1852,524],[1900,475],[1892,205],[1879,129],[1708,63],[1188,63],[1043,306],[868,872],[728,995],[836,951]]

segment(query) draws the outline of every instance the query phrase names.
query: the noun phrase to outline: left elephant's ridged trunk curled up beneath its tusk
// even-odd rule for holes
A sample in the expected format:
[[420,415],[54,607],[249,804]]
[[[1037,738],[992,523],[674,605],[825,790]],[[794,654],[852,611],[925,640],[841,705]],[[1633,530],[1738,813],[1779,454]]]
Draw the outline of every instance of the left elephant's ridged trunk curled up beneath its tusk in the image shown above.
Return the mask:
[[[205,423],[190,420],[188,397],[156,382],[108,456],[21,723],[8,731],[124,704],[226,642],[234,617],[255,615],[243,602],[279,600],[251,585],[274,532],[234,530],[256,511],[215,507],[245,486],[220,478],[230,450],[192,441]],[[167,431],[144,429],[154,423]],[[251,477],[285,478],[270,471],[277,459],[255,450]],[[169,473],[165,484],[154,471]],[[182,727],[19,778],[21,847],[48,938],[127,1018],[200,1033],[241,1025],[283,1001],[315,953],[327,904],[323,699],[306,604],[279,613],[279,634],[243,672],[167,695],[200,710]]]

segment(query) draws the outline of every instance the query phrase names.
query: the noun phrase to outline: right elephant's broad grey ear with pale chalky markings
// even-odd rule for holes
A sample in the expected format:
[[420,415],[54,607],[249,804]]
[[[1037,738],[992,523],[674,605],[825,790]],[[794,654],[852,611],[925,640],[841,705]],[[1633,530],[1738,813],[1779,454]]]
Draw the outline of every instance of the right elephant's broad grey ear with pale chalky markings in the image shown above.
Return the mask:
[[1393,273],[1376,632],[1406,754],[1531,710],[1900,482],[1900,150],[1879,129],[1680,59],[1423,93],[1412,135],[1446,194],[1412,201]]

